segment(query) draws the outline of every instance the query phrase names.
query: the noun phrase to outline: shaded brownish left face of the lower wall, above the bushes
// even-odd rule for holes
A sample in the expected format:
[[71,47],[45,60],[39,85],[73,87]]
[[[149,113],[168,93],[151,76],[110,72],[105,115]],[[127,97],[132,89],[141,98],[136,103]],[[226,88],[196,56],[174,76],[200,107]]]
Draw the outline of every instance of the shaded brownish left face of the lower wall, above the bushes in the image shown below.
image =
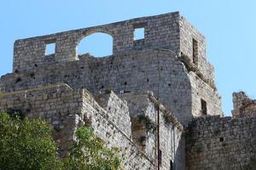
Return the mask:
[[73,143],[75,115],[81,112],[82,95],[66,85],[54,85],[3,94],[0,111],[18,111],[29,118],[41,117],[54,128],[53,138],[64,156]]

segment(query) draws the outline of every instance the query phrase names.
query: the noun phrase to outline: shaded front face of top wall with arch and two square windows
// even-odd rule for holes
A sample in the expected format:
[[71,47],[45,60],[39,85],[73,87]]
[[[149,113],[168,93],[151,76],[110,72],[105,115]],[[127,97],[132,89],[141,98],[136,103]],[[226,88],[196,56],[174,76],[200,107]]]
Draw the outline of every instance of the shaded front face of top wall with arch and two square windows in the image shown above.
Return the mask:
[[[42,37],[20,39],[15,42],[13,71],[78,60],[76,47],[79,42],[96,32],[107,33],[113,37],[113,54],[123,54],[134,48],[148,47],[167,48],[176,52],[179,48],[178,21],[178,13],[161,14]],[[144,28],[144,39],[134,40],[134,30],[137,28]],[[53,42],[55,54],[45,55],[46,45]]]

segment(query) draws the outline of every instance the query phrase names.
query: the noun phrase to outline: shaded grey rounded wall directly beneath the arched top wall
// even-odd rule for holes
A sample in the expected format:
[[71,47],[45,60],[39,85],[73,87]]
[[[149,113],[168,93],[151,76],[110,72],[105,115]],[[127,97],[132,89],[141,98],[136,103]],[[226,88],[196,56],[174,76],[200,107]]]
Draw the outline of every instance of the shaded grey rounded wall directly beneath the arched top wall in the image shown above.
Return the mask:
[[20,71],[2,77],[0,88],[15,91],[65,82],[90,92],[112,89],[116,94],[154,91],[178,120],[191,119],[191,89],[183,64],[170,51],[143,49],[129,54],[93,58]]

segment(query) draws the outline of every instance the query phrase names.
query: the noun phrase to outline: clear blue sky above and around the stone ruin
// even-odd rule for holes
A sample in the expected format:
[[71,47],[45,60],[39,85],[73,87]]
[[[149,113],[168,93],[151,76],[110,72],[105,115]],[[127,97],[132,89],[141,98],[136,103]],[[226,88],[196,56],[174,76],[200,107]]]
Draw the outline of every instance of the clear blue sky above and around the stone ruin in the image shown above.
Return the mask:
[[0,76],[12,71],[16,39],[173,11],[207,37],[224,114],[230,115],[234,91],[256,98],[255,0],[1,0]]

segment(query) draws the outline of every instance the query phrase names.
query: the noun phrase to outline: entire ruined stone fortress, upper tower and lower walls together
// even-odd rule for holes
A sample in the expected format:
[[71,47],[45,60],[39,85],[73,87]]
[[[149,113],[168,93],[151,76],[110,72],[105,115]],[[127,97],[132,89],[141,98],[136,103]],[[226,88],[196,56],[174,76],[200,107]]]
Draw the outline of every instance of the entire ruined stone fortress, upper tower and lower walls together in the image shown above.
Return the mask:
[[[113,37],[113,54],[77,54],[96,32]],[[224,117],[205,37],[177,12],[17,40],[0,90],[1,111],[49,122],[61,156],[90,126],[127,170],[238,170],[256,157],[256,102],[234,93]]]

